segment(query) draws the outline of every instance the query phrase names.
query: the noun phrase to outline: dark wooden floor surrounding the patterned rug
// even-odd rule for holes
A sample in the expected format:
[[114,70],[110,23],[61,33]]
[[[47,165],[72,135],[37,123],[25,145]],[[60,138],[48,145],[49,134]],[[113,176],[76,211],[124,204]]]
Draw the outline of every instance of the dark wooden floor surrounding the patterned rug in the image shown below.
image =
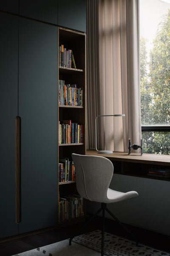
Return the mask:
[[[101,223],[101,218],[96,217],[95,220],[89,224],[88,227],[82,230],[81,233],[100,229]],[[37,247],[42,247],[47,244],[52,244],[57,241],[68,239],[81,226],[82,223],[79,223],[54,230],[44,231],[34,235],[27,234],[25,237],[11,239],[10,241],[0,241],[0,256],[11,256],[27,250],[32,250]],[[170,236],[161,235],[159,233],[132,227],[129,225],[126,226],[138,238],[140,243],[170,253]],[[119,224],[109,219],[105,220],[105,231],[131,239],[129,234],[123,230]]]

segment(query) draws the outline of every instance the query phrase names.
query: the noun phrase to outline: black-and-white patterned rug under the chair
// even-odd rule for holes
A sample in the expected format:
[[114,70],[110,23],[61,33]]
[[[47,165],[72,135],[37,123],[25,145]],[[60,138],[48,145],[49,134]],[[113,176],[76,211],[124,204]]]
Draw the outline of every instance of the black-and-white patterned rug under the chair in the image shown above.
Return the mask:
[[[96,230],[76,236],[72,245],[68,241],[60,241],[14,256],[100,256],[101,231]],[[123,239],[122,237],[105,232],[105,256],[170,256],[170,253]]]

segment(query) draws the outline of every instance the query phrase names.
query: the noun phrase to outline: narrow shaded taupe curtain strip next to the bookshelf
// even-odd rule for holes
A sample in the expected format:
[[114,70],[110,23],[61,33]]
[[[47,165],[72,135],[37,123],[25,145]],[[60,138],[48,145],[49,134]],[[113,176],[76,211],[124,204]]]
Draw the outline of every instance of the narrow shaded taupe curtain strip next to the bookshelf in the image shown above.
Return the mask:
[[[87,127],[88,148],[95,148],[95,118],[99,104],[99,13],[98,0],[87,0]],[[99,126],[98,126],[99,127]],[[100,132],[97,140],[100,144]]]

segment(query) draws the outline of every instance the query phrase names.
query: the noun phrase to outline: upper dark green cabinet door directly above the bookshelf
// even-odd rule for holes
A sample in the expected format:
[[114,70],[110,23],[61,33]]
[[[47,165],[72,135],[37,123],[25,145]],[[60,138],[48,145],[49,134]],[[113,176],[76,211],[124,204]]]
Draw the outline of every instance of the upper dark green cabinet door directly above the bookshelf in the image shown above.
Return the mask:
[[86,32],[86,0],[58,0],[58,25]]

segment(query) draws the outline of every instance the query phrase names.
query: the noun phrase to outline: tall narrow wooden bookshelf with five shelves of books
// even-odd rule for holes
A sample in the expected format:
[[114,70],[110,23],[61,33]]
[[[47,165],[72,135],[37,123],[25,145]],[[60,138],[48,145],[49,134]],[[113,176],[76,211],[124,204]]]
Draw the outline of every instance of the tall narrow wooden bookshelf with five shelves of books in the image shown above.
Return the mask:
[[[86,150],[86,34],[58,27],[58,47],[58,223],[67,225],[85,216],[84,199],[77,192],[71,154],[85,154]],[[68,57],[70,54],[74,59]],[[74,204],[74,200],[79,204]],[[77,209],[80,216],[69,217],[72,205],[81,205]]]

